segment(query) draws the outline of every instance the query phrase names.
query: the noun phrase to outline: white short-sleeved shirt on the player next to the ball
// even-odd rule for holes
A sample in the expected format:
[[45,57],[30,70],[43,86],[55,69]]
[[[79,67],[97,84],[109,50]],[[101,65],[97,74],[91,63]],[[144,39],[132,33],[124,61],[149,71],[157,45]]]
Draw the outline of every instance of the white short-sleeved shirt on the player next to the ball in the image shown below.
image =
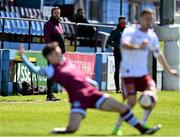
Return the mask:
[[157,35],[152,29],[143,32],[138,25],[126,28],[121,37],[121,45],[130,43],[140,46],[143,41],[148,41],[144,49],[129,50],[121,46],[122,62],[121,77],[141,77],[148,74],[148,54],[150,51],[155,57],[160,55],[160,46]]

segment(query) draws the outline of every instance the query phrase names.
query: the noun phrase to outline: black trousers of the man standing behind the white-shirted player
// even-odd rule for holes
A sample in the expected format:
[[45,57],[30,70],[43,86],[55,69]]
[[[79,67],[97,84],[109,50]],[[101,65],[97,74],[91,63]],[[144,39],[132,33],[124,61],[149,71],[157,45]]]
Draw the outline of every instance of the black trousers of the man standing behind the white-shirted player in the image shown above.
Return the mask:
[[114,81],[116,86],[116,92],[120,90],[119,88],[119,69],[120,69],[120,61],[121,61],[121,52],[120,48],[114,48],[114,61],[115,61],[115,72],[114,72]]

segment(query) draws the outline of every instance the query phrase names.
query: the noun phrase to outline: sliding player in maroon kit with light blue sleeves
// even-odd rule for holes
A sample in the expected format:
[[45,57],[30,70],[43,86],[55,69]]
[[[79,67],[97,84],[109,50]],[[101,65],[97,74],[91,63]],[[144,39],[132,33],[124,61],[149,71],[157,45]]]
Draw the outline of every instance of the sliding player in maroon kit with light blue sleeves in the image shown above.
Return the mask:
[[139,130],[141,134],[153,134],[160,129],[160,126],[144,128],[126,105],[117,102],[107,94],[98,91],[95,86],[92,86],[83,73],[62,58],[58,43],[49,43],[43,49],[43,55],[50,63],[46,68],[34,66],[29,62],[23,54],[22,47],[19,49],[19,55],[32,72],[53,79],[61,84],[69,95],[71,103],[69,124],[65,128],[54,128],[51,133],[66,134],[77,131],[81,121],[86,116],[86,109],[88,108],[119,113],[128,124]]

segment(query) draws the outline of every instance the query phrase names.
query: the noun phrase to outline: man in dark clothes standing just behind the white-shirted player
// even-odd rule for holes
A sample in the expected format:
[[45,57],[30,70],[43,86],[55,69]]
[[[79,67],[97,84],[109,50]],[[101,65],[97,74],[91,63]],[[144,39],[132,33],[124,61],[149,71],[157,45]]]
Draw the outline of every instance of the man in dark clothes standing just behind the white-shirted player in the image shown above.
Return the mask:
[[120,52],[120,39],[121,34],[126,27],[126,17],[120,16],[119,23],[117,27],[111,32],[109,39],[107,41],[107,45],[110,45],[114,48],[114,61],[115,61],[115,72],[114,72],[114,81],[116,86],[116,93],[119,92],[119,69],[120,69],[120,61],[121,61],[121,52]]

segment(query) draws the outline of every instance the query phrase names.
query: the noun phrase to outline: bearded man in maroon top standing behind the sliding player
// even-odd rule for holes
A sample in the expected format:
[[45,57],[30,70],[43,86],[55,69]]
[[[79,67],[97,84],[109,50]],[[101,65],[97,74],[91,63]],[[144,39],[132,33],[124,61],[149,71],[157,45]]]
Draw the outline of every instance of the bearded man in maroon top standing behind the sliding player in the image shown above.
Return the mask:
[[[54,7],[51,9],[50,20],[46,22],[44,25],[44,40],[46,43],[50,43],[53,41],[58,42],[61,48],[62,54],[64,54],[65,53],[65,45],[64,45],[64,39],[63,39],[64,31],[60,24],[60,14],[61,14],[61,10],[59,7]],[[53,81],[51,79],[48,79],[46,101],[59,100],[53,95],[52,86],[53,86]]]

